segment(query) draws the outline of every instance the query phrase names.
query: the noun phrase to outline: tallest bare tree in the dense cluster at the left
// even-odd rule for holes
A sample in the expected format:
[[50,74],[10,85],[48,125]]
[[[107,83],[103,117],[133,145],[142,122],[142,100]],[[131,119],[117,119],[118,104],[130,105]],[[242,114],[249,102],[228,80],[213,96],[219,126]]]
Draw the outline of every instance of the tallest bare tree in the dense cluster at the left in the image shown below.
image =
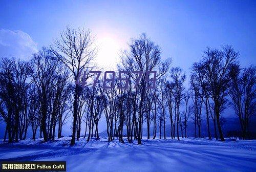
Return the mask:
[[40,129],[45,141],[49,138],[48,134],[52,108],[51,93],[53,91],[55,79],[58,76],[56,71],[57,66],[57,61],[53,60],[52,53],[46,48],[43,48],[38,54],[33,55],[32,77],[38,92]]

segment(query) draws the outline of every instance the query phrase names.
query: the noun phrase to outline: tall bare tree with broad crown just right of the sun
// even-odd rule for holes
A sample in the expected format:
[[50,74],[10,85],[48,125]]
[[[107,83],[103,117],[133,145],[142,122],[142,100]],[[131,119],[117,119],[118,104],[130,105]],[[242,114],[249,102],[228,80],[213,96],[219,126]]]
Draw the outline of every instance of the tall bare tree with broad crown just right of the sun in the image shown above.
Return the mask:
[[[151,41],[146,34],[142,34],[139,39],[132,39],[129,45],[130,50],[126,51],[121,56],[121,65],[119,67],[122,71],[141,71],[142,76],[138,85],[140,91],[140,102],[138,107],[138,144],[141,144],[142,118],[143,118],[143,102],[145,100],[146,87],[148,84],[146,78],[147,71],[154,71],[162,67],[156,80],[164,75],[169,67],[169,61],[161,65],[161,50]],[[137,81],[134,75],[131,75],[134,82]]]

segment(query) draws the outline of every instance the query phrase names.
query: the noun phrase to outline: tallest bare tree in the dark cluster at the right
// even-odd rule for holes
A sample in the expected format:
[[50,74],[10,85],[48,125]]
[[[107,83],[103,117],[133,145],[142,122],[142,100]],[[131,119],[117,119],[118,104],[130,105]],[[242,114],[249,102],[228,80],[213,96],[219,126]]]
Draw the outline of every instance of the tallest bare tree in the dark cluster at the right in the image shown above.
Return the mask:
[[236,62],[239,53],[234,51],[231,46],[223,47],[223,51],[208,48],[204,53],[202,72],[209,84],[209,96],[214,102],[214,113],[216,115],[220,138],[221,141],[225,141],[220,124],[220,115],[226,108],[226,97],[230,82],[228,71],[232,64]]

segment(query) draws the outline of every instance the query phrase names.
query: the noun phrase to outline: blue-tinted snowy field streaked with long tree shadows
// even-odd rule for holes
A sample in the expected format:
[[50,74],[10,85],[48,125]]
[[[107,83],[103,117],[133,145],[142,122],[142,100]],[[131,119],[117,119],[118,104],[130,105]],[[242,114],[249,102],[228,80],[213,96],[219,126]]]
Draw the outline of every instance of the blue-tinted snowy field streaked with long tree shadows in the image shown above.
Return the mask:
[[69,143],[68,137],[46,143],[1,141],[0,160],[67,161],[67,171],[256,171],[256,140],[144,139],[137,145],[101,138],[81,139],[73,147]]

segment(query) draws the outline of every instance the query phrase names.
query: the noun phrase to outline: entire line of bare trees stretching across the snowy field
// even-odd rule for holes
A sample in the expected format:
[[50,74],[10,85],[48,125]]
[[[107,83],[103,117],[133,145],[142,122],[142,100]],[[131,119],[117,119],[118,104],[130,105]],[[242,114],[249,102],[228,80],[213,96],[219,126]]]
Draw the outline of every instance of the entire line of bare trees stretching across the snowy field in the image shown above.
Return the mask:
[[[131,39],[120,54],[119,75],[110,74],[113,89],[105,89],[101,77],[94,85],[90,82],[97,77],[95,71],[103,71],[94,61],[94,43],[89,30],[68,26],[59,39],[33,54],[29,61],[1,59],[4,141],[26,139],[29,130],[34,140],[39,136],[54,141],[62,137],[62,127],[68,121],[72,121],[71,145],[81,136],[87,141],[99,139],[102,116],[109,141],[118,138],[123,143],[126,138],[142,144],[143,135],[155,139],[157,134],[159,138],[180,140],[188,137],[189,121],[194,124],[193,137],[203,137],[205,122],[207,137],[224,141],[221,119],[229,107],[240,123],[240,137],[252,138],[249,126],[256,110],[256,68],[242,68],[240,55],[232,46],[207,48],[186,75],[180,67],[172,66],[172,59],[161,58],[160,47],[141,34]],[[88,83],[82,83],[80,76]],[[167,123],[170,135],[166,134]],[[147,133],[142,133],[143,127]]]

